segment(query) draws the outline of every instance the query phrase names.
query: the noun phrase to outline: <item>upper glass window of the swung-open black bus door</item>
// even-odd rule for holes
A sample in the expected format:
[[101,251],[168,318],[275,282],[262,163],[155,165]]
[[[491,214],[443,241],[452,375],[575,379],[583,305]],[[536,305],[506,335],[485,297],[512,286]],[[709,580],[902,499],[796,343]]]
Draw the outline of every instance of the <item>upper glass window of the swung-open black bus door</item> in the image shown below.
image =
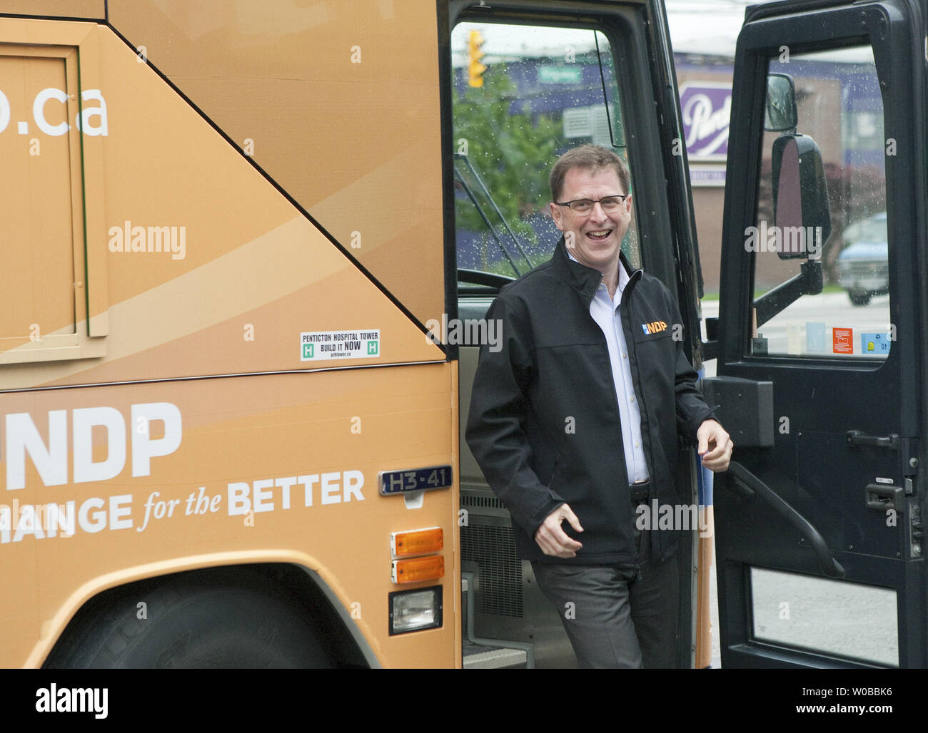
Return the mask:
[[[872,49],[793,56],[783,49],[769,59],[767,78],[788,76],[793,82],[795,132],[812,138],[820,150],[831,234],[827,227],[776,225],[772,160],[783,133],[765,132],[756,220],[744,233],[745,248],[754,252],[750,353],[885,359],[896,336],[890,324],[885,186],[885,156],[892,154],[893,141],[883,136],[883,98]],[[779,205],[788,206],[794,193],[780,190]],[[784,256],[784,249],[804,246],[806,257]],[[818,269],[820,280],[813,272]],[[806,285],[790,302],[784,290],[804,272]]]

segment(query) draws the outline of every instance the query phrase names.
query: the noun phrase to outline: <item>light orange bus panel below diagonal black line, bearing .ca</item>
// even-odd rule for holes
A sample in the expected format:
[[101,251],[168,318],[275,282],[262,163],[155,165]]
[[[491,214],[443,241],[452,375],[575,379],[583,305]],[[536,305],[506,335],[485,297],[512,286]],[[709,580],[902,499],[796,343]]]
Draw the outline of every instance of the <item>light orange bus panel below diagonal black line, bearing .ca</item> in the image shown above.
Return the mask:
[[[73,250],[76,322],[43,320],[33,311],[34,320],[26,313],[6,323],[6,351],[26,352],[8,357],[22,362],[6,368],[6,388],[332,366],[336,360],[319,360],[318,353],[315,360],[305,359],[301,335],[338,329],[381,332],[376,357],[364,354],[345,363],[442,359],[350,259],[112,32],[66,26],[0,21],[2,37],[11,42],[41,36],[49,44],[68,43],[83,34],[77,48],[88,51],[81,83],[84,90],[99,90],[104,100],[84,107],[81,114],[89,121],[83,135],[73,124],[68,133],[82,148],[84,176],[72,173],[71,209],[75,218],[84,216],[87,246],[80,226],[71,243],[49,244],[32,241],[31,218],[19,220],[21,231],[14,221],[10,244],[25,240],[38,251]],[[4,64],[21,58],[12,55],[28,47],[7,46],[0,73]],[[26,89],[22,97],[28,101],[42,92]],[[32,112],[46,129],[65,124],[65,110],[54,98],[39,107],[35,111],[33,102],[32,109],[11,114],[16,120]],[[41,146],[63,135],[30,129],[34,136],[7,129],[0,145],[18,162],[45,163],[48,153],[43,157]],[[35,141],[38,155],[27,140]],[[17,195],[17,181],[5,182],[10,196]],[[28,211],[35,197],[27,190],[19,194],[21,206],[11,209]],[[47,204],[49,216],[60,215],[60,208],[51,209],[56,203]],[[33,268],[31,281],[7,274],[6,292],[38,299],[44,272]],[[440,282],[434,289],[441,290]],[[43,335],[57,337],[69,329],[80,334],[86,306],[90,336],[84,346],[92,343],[105,356],[26,361],[46,348]],[[355,315],[362,312],[369,315]]]

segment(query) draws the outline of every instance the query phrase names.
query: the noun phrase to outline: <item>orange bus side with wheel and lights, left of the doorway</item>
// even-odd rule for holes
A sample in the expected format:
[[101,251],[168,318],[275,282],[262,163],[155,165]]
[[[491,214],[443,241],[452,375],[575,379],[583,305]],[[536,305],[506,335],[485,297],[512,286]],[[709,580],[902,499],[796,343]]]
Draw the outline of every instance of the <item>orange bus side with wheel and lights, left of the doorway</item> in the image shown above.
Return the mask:
[[460,663],[435,7],[356,5],[0,5],[3,666]]

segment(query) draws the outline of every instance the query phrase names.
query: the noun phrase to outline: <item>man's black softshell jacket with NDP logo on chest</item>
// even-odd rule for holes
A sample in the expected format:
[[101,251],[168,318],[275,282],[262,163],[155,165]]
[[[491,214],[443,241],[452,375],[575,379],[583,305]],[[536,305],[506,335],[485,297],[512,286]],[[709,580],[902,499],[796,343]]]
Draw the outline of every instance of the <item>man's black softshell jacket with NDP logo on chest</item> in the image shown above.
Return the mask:
[[[673,505],[679,501],[673,482],[677,433],[695,439],[702,421],[714,414],[683,352],[673,297],[657,278],[632,272],[624,257],[621,266],[630,274],[619,310],[651,498]],[[499,319],[501,338],[496,351],[481,347],[466,437],[511,512],[517,550],[528,560],[636,561],[636,516],[609,349],[589,314],[601,279],[569,259],[561,239],[548,262],[503,287],[487,311],[488,319]],[[575,558],[549,557],[535,543],[535,530],[565,501],[584,531],[562,526],[583,548]],[[674,533],[652,533],[652,551],[660,557],[675,545]]]

